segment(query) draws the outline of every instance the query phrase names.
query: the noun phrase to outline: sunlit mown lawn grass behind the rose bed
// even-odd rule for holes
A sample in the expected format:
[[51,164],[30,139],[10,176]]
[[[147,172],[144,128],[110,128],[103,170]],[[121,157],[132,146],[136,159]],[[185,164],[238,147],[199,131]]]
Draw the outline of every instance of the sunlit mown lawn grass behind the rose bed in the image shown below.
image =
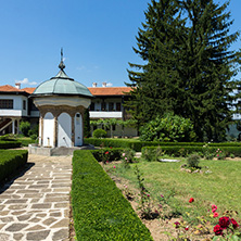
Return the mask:
[[[206,215],[211,204],[216,204],[220,215],[227,210],[237,211],[241,219],[241,161],[201,161],[200,166],[208,166],[210,174],[181,172],[183,163],[140,162],[126,170],[117,164],[115,175],[137,187],[134,169],[138,165],[151,196],[157,200],[160,194],[172,193],[168,204],[186,218],[191,218],[187,212],[192,216]],[[191,204],[190,198],[194,198]]]

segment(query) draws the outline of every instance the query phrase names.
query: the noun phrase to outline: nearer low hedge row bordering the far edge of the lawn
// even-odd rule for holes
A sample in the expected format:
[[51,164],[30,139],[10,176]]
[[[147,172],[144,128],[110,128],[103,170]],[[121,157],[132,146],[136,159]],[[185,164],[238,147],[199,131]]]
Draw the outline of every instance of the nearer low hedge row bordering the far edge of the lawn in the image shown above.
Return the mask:
[[[241,157],[241,147],[210,147],[208,152],[213,152],[214,155],[216,154],[217,148],[223,151],[226,156],[230,156],[233,154],[234,156]],[[145,150],[153,150],[156,147],[144,147],[141,149],[141,153],[144,153]],[[187,156],[191,153],[205,153],[205,148],[203,147],[185,147],[185,145],[174,145],[174,147],[161,147],[162,151],[167,155],[174,156]]]

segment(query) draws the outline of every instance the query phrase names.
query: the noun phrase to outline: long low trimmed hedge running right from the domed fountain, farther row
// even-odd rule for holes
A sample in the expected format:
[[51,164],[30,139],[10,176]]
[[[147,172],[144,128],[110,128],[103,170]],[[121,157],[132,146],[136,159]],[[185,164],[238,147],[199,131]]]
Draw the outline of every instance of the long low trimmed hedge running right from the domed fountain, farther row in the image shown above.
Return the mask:
[[[200,147],[203,148],[203,142],[156,142],[156,141],[138,141],[126,139],[98,139],[98,138],[85,138],[85,143],[92,144],[94,147],[113,147],[113,148],[129,148],[136,152],[140,152],[143,147]],[[210,147],[223,148],[223,147],[240,147],[241,142],[224,142],[224,143],[208,143]]]

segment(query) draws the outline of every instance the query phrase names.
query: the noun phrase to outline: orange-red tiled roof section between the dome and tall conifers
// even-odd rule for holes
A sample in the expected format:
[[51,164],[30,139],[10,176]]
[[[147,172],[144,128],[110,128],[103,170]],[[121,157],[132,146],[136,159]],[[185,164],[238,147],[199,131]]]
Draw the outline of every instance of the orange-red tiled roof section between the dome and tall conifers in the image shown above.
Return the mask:
[[90,87],[88,89],[93,96],[123,96],[130,92],[131,87]]

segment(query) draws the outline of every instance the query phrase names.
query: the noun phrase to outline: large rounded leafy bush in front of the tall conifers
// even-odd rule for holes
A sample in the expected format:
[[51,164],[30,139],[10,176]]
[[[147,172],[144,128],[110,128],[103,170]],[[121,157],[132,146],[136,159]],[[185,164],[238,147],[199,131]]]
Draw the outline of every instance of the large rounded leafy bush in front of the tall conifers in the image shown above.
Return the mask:
[[173,113],[147,123],[140,132],[140,139],[143,141],[192,141],[195,139],[192,122]]

